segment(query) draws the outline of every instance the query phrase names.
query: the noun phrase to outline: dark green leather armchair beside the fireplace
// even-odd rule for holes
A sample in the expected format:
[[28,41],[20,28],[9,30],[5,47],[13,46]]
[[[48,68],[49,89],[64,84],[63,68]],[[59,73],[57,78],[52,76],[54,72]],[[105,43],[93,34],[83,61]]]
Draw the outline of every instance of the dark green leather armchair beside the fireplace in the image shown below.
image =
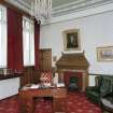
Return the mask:
[[111,93],[113,88],[113,76],[100,75],[96,76],[96,86],[86,87],[86,96],[95,103],[100,104],[101,97]]

